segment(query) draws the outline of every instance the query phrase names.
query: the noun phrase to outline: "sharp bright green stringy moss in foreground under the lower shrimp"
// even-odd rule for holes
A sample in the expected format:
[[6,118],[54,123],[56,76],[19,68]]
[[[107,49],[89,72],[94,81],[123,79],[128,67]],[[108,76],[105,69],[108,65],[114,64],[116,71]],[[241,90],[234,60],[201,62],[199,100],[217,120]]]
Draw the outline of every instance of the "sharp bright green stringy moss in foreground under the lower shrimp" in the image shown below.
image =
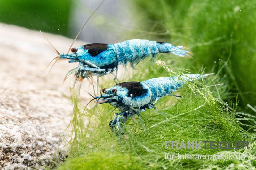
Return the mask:
[[[145,69],[142,66],[139,69]],[[175,67],[152,65],[166,76],[179,75],[186,70]],[[146,72],[150,72],[150,69]],[[167,71],[166,71],[167,70]],[[138,71],[138,70],[137,70]],[[141,71],[141,70],[140,70]],[[151,73],[151,72],[150,72]],[[153,75],[152,75],[153,74]],[[156,76],[158,72],[152,72]],[[144,79],[143,75],[134,74],[134,79]],[[97,105],[84,110],[76,97],[71,97],[74,104],[74,116],[68,129],[73,134],[72,140],[66,140],[70,152],[59,169],[168,169],[168,168],[224,168],[231,166],[255,166],[254,135],[245,131],[239,122],[241,117],[233,108],[218,99],[221,85],[215,81],[221,79],[216,75],[203,81],[188,82],[178,94],[182,98],[165,96],[156,107],[159,110],[146,110],[141,113],[146,131],[141,124],[128,120],[125,124],[126,135],[116,137],[110,130],[108,122],[113,118],[114,108],[108,104]],[[102,80],[103,81],[103,80]],[[109,82],[104,83],[109,87]],[[208,87],[210,86],[210,87]],[[225,89],[225,87],[224,87]],[[177,93],[176,93],[177,94]],[[93,106],[95,103],[92,103]],[[79,116],[80,115],[80,116]],[[81,124],[84,120],[85,125]],[[80,122],[80,123],[79,123]],[[138,121],[139,122],[139,121]],[[74,135],[76,134],[76,135]],[[69,136],[70,137],[70,136]],[[250,141],[246,150],[216,149],[164,149],[165,141]],[[175,154],[174,160],[164,160],[164,153]],[[237,152],[237,153],[236,153]],[[238,154],[244,153],[245,160],[179,160],[177,154]]]

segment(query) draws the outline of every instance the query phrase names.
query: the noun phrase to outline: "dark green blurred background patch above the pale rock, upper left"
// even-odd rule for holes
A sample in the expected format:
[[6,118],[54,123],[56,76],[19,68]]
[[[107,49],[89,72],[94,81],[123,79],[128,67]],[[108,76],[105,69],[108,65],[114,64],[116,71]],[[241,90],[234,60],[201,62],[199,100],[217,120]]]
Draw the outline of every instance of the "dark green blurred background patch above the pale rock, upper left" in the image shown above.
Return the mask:
[[8,0],[0,2],[0,22],[69,35],[71,0]]

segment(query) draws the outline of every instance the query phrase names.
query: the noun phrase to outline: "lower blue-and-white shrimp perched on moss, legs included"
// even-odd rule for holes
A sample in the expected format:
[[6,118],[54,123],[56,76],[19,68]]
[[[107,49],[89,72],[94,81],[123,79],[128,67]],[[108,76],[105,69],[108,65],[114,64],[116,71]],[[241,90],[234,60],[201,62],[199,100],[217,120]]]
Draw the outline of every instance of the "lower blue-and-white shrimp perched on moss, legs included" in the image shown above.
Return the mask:
[[128,117],[132,117],[135,121],[135,114],[138,115],[145,130],[139,112],[145,111],[146,108],[156,109],[154,105],[159,98],[176,96],[171,95],[171,93],[181,88],[186,81],[202,79],[208,75],[211,74],[182,74],[180,77],[159,77],[142,82],[123,82],[108,89],[102,89],[105,94],[95,96],[94,99],[97,100],[98,104],[109,103],[120,110],[120,113],[115,113],[113,120],[109,122],[109,126],[113,131],[116,131],[117,127],[117,130],[120,129],[121,134],[124,134],[122,123],[125,123]]

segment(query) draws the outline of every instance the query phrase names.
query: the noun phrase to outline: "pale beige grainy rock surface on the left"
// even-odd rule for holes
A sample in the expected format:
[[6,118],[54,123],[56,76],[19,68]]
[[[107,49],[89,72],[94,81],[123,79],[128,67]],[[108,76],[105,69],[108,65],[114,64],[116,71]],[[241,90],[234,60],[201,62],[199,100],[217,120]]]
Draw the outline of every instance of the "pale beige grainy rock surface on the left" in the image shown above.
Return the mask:
[[[41,76],[57,54],[40,32],[0,25],[0,169],[38,169],[56,152],[69,123],[72,106],[62,93],[69,96],[74,77],[62,81],[77,64],[60,61],[47,78],[49,69]],[[45,36],[60,53],[72,43],[62,36]],[[83,44],[76,41],[74,46]]]

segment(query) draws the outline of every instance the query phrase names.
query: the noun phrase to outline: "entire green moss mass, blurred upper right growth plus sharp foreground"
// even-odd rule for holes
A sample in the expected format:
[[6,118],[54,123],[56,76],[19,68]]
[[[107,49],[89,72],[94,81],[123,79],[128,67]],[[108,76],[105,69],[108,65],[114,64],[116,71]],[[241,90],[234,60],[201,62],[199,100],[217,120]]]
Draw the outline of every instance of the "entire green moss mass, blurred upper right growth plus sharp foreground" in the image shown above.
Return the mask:
[[[156,103],[158,110],[142,112],[146,131],[142,130],[140,123],[129,119],[124,125],[125,135],[118,137],[108,126],[108,122],[117,112],[115,108],[108,104],[95,106],[95,103],[91,103],[89,106],[92,109],[84,110],[84,105],[76,96],[72,96],[70,101],[74,106],[74,115],[67,130],[69,135],[62,138],[69,147],[68,158],[64,163],[57,164],[58,169],[255,168],[255,120],[253,115],[241,113],[247,111],[247,103],[253,103],[255,100],[254,93],[246,93],[248,89],[254,90],[256,87],[252,76],[252,67],[256,64],[255,57],[245,57],[255,55],[255,4],[238,0],[134,2],[140,16],[137,18],[143,20],[142,25],[145,24],[145,18],[156,21],[154,24],[147,23],[143,30],[148,29],[148,32],[145,37],[139,38],[157,38],[159,41],[170,41],[175,45],[186,45],[191,47],[194,58],[161,54],[159,58],[165,64],[159,59],[155,61],[162,67],[150,62],[150,59],[145,59],[133,72],[130,69],[125,72],[124,80],[120,81],[144,81],[183,73],[213,72],[215,75],[188,82],[174,93],[182,98],[162,97]],[[155,31],[163,28],[163,33]],[[111,87],[114,83],[102,77],[100,84]],[[253,109],[250,111],[255,114]],[[165,150],[165,141],[249,141],[250,145],[249,149],[240,150]],[[165,152],[174,154],[174,159],[164,160]],[[177,158],[178,154],[241,153],[246,155],[244,160]]]

